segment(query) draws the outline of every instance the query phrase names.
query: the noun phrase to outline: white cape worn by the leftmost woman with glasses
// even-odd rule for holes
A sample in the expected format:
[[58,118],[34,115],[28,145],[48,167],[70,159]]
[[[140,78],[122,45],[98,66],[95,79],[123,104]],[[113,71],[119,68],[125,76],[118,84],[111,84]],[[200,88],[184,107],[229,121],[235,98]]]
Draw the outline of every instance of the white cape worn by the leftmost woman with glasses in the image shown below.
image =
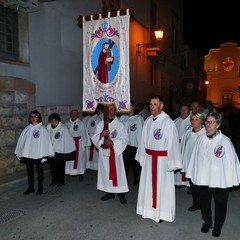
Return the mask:
[[25,127],[18,139],[14,154],[17,158],[53,157],[54,150],[46,127],[42,123],[29,124]]

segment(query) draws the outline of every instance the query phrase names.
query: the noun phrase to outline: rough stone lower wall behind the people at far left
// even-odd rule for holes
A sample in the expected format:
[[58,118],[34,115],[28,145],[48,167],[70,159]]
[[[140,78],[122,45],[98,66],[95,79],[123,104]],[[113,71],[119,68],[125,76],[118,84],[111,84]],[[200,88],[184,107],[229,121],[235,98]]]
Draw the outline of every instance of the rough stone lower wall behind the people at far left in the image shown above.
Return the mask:
[[66,122],[70,111],[80,111],[80,106],[36,107],[33,83],[15,77],[0,77],[0,177],[25,170],[25,166],[16,161],[14,150],[22,130],[28,125],[28,115],[34,109],[42,114],[43,124],[47,125],[51,113],[59,113],[62,122]]

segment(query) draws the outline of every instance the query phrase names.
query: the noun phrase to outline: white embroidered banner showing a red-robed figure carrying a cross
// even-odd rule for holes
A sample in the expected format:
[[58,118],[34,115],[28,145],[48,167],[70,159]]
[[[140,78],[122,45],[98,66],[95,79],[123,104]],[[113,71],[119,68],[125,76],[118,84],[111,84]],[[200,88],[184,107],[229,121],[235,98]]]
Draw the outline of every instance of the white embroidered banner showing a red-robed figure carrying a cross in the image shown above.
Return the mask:
[[130,15],[84,21],[83,111],[115,103],[118,112],[130,108]]

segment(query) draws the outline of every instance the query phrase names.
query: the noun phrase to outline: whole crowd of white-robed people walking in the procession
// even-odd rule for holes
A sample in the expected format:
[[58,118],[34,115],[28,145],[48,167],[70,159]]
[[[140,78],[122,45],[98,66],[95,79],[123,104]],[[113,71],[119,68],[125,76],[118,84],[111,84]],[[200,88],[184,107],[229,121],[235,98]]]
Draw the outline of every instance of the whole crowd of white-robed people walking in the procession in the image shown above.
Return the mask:
[[[101,106],[96,113],[79,118],[73,109],[61,122],[58,113],[49,116],[45,127],[41,114],[29,114],[15,156],[26,164],[29,195],[34,188],[34,166],[38,176],[37,194],[43,194],[43,164],[49,163],[50,187],[64,185],[65,175],[80,180],[87,169],[97,171],[97,189],[102,201],[118,196],[127,203],[129,172],[138,187],[136,213],[157,223],[175,219],[175,189],[184,186],[192,196],[189,211],[201,210],[201,232],[213,228],[219,237],[227,215],[229,191],[240,185],[237,155],[240,140],[239,110],[214,108],[211,101],[176,102],[168,115],[164,100],[154,96],[149,103],[131,100],[128,114],[117,115],[108,105],[108,122]],[[211,201],[214,200],[214,217]]]

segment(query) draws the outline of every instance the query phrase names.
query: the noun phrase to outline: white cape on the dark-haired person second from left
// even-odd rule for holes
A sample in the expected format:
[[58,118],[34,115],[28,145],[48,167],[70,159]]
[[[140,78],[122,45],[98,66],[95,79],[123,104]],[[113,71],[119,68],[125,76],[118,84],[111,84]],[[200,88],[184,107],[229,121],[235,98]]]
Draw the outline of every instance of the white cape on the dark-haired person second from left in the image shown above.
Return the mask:
[[54,151],[57,153],[70,153],[76,150],[72,135],[66,125],[59,122],[57,127],[52,128],[51,123],[47,125]]

